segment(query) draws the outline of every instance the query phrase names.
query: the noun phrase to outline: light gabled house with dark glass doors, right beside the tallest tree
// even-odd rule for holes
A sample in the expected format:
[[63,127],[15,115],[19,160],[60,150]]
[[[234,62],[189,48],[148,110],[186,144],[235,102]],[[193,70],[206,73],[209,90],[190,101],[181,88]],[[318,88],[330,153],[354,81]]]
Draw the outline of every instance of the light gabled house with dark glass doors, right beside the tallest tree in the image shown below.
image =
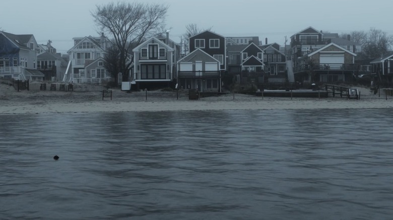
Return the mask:
[[133,53],[131,78],[138,90],[172,85],[175,79],[174,48],[153,36],[135,47]]

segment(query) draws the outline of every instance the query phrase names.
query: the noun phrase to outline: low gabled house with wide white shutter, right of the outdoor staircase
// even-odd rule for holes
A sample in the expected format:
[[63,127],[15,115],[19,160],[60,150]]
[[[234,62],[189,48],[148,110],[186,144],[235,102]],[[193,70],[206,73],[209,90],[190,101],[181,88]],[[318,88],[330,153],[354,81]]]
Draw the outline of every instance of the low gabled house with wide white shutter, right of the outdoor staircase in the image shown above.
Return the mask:
[[299,82],[348,82],[357,75],[356,54],[335,43],[297,58],[295,80]]

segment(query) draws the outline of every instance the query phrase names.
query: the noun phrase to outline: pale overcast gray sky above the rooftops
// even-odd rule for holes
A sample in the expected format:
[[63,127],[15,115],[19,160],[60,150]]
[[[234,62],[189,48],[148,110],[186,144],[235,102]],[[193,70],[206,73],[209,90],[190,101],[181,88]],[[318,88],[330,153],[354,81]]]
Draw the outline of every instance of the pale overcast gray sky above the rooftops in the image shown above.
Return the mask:
[[[0,28],[13,34],[33,34],[39,44],[49,39],[57,52],[73,47],[73,37],[98,36],[90,12],[106,0],[2,1]],[[117,2],[116,0],[113,2]],[[125,0],[124,2],[133,2]],[[368,31],[393,34],[391,0],[145,0],[169,5],[170,38],[180,42],[187,24],[224,36],[258,36],[284,45],[285,36],[309,26],[332,33]],[[288,41],[289,43],[289,41]]]

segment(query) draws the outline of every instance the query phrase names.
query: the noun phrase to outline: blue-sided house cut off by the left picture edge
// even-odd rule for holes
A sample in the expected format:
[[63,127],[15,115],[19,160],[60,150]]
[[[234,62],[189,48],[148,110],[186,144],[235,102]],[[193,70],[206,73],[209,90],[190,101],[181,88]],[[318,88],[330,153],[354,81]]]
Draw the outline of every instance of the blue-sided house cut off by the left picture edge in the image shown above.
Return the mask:
[[0,77],[42,81],[37,70],[37,42],[32,34],[15,35],[0,31]]

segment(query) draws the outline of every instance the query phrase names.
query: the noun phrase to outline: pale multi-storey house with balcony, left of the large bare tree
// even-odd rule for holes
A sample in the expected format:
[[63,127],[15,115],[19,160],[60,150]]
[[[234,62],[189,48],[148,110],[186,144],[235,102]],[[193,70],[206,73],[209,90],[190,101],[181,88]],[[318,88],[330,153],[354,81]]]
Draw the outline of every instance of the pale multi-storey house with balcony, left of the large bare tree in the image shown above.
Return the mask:
[[[111,80],[110,74],[104,71],[103,74],[97,73],[97,70],[90,69],[87,72],[86,66],[91,62],[103,58],[108,46],[108,39],[102,33],[100,37],[75,37],[73,38],[74,47],[67,53],[70,55],[72,68],[65,76],[66,81],[75,83],[104,83]],[[99,68],[101,69],[101,68]],[[100,70],[98,70],[100,71]]]

